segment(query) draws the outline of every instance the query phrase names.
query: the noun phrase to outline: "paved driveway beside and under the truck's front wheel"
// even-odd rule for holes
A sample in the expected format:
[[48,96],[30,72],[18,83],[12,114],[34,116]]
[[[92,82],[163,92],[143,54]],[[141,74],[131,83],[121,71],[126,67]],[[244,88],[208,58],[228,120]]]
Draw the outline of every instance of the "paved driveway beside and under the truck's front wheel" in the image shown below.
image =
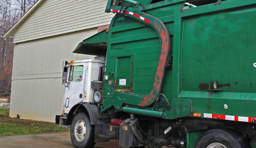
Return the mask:
[[[0,137],[1,148],[74,148],[69,131]],[[94,148],[121,148],[118,140],[97,143]],[[141,147],[145,148],[145,147]],[[167,147],[163,147],[167,148]]]

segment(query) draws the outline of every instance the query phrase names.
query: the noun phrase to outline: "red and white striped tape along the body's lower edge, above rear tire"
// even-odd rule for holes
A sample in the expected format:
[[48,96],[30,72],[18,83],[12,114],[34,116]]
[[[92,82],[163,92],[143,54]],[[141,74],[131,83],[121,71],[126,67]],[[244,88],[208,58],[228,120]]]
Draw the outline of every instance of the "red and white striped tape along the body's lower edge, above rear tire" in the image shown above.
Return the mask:
[[207,114],[207,113],[204,113],[204,118],[216,118],[216,119],[222,119],[222,120],[243,121],[243,122],[256,122],[256,118],[252,118],[252,117],[240,117],[240,116]]

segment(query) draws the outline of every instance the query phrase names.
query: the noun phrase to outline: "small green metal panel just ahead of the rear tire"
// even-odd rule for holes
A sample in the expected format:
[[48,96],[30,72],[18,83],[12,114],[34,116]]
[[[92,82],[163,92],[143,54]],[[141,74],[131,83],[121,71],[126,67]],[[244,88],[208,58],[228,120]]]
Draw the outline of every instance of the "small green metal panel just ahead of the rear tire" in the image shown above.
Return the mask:
[[201,131],[187,131],[187,148],[194,148],[197,139],[203,134]]

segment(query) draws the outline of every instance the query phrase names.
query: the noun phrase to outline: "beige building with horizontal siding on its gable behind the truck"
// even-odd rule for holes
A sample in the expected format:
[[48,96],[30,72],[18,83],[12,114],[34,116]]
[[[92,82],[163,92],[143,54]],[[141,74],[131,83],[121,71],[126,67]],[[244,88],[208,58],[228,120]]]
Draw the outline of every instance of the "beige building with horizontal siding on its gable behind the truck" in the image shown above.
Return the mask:
[[72,53],[110,23],[107,0],[38,0],[3,37],[13,37],[10,117],[55,122],[65,87],[63,61],[93,58]]

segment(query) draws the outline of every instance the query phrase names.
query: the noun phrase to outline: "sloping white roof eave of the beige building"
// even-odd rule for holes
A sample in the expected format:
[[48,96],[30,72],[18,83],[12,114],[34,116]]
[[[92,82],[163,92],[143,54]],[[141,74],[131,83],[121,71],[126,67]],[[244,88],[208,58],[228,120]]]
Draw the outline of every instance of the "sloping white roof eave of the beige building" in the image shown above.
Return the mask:
[[37,0],[36,3],[15,23],[4,35],[3,38],[13,38],[15,30],[20,26],[21,23],[43,2],[44,0]]

